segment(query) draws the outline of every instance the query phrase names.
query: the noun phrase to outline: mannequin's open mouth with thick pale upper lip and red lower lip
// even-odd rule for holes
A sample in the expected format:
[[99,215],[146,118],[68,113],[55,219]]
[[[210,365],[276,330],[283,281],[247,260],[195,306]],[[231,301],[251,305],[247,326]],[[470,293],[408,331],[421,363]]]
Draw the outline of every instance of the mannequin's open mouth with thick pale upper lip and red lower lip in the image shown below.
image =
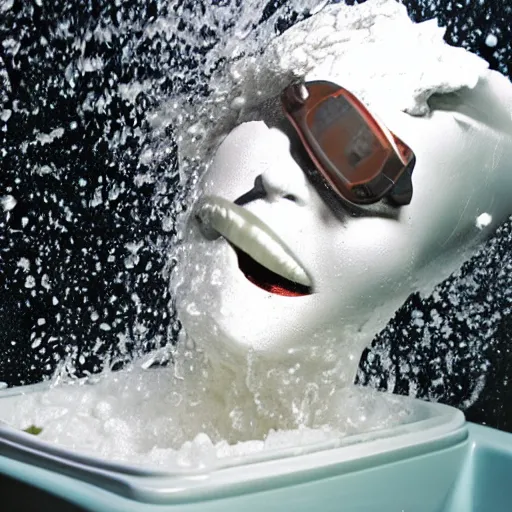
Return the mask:
[[254,285],[270,293],[300,297],[313,293],[313,280],[291,249],[253,213],[226,199],[208,196],[196,209],[202,233],[223,236],[238,266]]

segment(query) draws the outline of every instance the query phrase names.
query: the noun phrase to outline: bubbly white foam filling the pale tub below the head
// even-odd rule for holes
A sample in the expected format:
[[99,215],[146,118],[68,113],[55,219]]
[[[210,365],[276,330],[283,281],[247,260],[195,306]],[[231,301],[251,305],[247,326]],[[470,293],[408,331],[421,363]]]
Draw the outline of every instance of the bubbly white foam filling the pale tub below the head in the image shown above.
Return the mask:
[[350,388],[343,390],[343,415],[336,425],[267,427],[248,436],[233,421],[244,412],[230,411],[209,395],[201,376],[194,383],[188,375],[190,385],[172,374],[169,368],[144,371],[139,366],[3,398],[1,419],[18,429],[42,428],[40,439],[73,451],[168,468],[203,468],[227,458],[319,445],[414,419],[391,395]]

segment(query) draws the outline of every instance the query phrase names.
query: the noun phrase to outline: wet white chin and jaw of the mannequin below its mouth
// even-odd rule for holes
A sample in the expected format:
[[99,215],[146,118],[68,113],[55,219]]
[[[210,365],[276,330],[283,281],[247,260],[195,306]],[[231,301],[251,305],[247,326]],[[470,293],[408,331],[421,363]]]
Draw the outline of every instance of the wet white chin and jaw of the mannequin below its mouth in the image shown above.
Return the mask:
[[[326,369],[345,366],[344,357],[357,364],[355,346],[342,355],[347,346],[343,341],[355,339],[357,326],[327,321],[324,313],[329,301],[322,294],[275,296],[240,277],[239,272],[231,274],[225,268],[223,277],[230,277],[232,285],[220,288],[214,300],[211,290],[203,293],[201,288],[187,285],[189,293],[182,297],[179,309],[187,336],[215,367],[236,373],[247,372],[256,363],[261,363],[265,372],[297,363],[304,370]],[[198,303],[198,296],[205,300]],[[192,310],[189,304],[195,305]]]

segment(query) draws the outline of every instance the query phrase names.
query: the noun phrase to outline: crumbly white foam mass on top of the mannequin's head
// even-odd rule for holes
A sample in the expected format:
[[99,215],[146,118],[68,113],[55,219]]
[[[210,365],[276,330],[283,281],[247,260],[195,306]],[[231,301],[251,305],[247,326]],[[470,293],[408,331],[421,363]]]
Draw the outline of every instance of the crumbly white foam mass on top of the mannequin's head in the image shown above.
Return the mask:
[[414,23],[394,0],[330,5],[288,29],[261,56],[234,62],[219,84],[238,120],[292,80],[336,81],[366,104],[413,115],[429,112],[433,94],[474,87],[488,68],[483,59],[444,42],[436,20]]

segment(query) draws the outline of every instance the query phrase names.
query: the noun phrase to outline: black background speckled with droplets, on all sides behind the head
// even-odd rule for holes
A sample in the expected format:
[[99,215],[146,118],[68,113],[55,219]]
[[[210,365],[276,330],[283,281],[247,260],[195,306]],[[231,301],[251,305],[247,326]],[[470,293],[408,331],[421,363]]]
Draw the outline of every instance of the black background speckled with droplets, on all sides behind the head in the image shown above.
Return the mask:
[[[0,208],[0,381],[36,382],[66,362],[82,375],[105,355],[120,366],[176,338],[162,269],[175,235],[165,221],[184,192],[172,126],[162,155],[141,159],[158,142],[145,116],[172,93],[207,94],[205,55],[229,23],[197,31],[187,20],[226,3],[14,0],[0,10],[0,198],[17,201]],[[501,0],[405,3],[510,76],[512,8]],[[274,1],[255,24],[283,5],[278,31],[307,15]],[[173,13],[183,19],[175,30],[143,36]],[[511,231],[504,225],[432,297],[411,297],[365,352],[359,382],[512,431]]]

